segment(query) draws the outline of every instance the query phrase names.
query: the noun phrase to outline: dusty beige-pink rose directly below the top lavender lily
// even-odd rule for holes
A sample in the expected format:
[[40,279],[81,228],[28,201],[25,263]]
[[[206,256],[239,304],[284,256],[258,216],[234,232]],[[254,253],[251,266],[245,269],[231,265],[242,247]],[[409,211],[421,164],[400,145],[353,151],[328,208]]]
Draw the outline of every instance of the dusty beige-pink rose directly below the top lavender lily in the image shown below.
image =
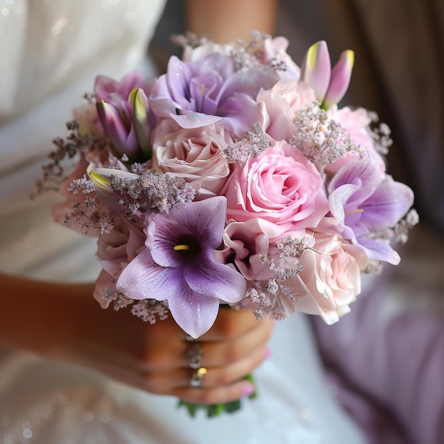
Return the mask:
[[[165,121],[165,125],[169,123]],[[230,174],[223,149],[233,143],[221,126],[179,128],[162,137],[158,133],[152,157],[155,170],[184,177],[201,196],[215,196],[221,191]]]

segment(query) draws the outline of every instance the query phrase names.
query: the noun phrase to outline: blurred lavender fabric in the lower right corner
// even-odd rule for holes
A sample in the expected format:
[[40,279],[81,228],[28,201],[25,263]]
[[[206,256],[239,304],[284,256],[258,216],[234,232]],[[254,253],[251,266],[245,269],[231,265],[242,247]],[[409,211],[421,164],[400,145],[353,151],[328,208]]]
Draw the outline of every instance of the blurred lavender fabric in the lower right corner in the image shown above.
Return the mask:
[[383,276],[339,323],[313,318],[328,380],[370,444],[444,443],[444,316],[390,291]]

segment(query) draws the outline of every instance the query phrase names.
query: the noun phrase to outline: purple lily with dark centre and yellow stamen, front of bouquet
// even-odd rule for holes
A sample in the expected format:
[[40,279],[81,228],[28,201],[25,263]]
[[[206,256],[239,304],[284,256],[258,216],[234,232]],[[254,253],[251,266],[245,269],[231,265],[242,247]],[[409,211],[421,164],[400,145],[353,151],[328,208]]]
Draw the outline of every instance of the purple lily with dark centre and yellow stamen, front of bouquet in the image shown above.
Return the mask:
[[132,299],[167,301],[179,326],[193,338],[211,328],[221,301],[245,296],[245,278],[216,261],[222,243],[226,199],[216,196],[177,204],[151,216],[147,248],[123,270],[116,288]]

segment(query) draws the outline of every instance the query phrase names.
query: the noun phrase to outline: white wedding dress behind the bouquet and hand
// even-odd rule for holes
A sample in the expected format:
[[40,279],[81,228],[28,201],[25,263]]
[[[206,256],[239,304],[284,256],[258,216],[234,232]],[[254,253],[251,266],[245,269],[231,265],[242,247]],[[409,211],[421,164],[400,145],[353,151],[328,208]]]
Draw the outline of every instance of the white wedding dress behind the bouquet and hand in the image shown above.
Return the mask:
[[[140,63],[163,6],[0,0],[2,271],[65,281],[96,277],[94,240],[52,222],[52,196],[29,195],[72,106],[91,91],[96,74],[119,78]],[[258,398],[212,419],[189,418],[171,397],[0,349],[0,443],[365,443],[335,402],[335,387],[323,380],[306,318],[278,323],[270,347],[272,357],[255,372]]]

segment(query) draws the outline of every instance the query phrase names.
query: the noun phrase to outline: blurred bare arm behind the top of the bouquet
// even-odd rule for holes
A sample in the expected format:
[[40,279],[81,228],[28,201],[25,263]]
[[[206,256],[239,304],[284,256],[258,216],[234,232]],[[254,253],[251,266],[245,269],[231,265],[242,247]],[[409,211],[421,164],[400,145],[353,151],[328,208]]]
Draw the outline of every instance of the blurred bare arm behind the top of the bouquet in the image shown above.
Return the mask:
[[187,0],[187,30],[209,35],[216,43],[237,38],[250,40],[250,32],[273,34],[278,0]]

